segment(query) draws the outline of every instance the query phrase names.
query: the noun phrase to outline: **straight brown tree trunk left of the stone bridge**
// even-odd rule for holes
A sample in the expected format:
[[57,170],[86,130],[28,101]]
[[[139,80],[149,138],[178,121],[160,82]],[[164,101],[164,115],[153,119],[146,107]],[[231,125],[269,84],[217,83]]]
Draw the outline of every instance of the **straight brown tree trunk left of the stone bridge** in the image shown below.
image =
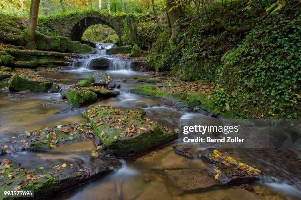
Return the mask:
[[24,33],[26,48],[28,49],[36,49],[36,44],[34,42],[34,34],[37,26],[39,7],[40,7],[40,0],[31,0],[28,27]]

